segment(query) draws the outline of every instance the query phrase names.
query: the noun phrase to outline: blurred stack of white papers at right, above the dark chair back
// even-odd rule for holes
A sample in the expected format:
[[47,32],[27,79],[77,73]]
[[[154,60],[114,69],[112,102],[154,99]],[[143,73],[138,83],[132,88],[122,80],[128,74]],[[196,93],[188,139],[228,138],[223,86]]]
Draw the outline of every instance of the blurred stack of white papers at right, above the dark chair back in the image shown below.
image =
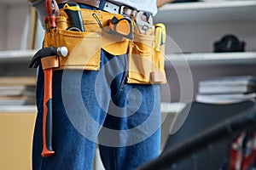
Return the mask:
[[256,77],[215,77],[199,82],[196,101],[211,104],[238,103],[256,97]]

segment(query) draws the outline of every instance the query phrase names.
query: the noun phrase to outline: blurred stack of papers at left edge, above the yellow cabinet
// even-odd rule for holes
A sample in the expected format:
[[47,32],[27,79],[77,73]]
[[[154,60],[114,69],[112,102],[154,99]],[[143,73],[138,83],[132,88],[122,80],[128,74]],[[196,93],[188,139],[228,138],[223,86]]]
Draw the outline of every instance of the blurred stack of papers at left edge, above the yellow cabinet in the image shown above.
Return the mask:
[[35,77],[0,77],[0,105],[35,105]]

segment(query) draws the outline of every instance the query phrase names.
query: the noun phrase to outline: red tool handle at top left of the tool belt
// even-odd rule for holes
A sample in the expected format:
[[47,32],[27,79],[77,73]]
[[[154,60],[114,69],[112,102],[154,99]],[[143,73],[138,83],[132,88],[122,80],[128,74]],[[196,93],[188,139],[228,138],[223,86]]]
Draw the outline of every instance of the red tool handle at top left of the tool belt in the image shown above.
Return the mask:
[[47,14],[46,20],[48,20],[50,28],[56,27],[55,18],[56,12],[58,11],[56,4],[55,0],[45,0],[45,9]]

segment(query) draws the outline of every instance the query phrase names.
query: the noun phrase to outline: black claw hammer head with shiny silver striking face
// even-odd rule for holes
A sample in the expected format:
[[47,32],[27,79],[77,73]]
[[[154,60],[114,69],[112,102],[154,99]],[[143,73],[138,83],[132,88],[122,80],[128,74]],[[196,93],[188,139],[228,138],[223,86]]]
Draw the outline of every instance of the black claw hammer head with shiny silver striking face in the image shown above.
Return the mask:
[[39,49],[36,54],[32,57],[28,67],[29,68],[37,68],[40,64],[40,61],[44,57],[49,57],[53,55],[63,56],[65,57],[67,55],[67,48],[61,47],[61,48],[54,48],[54,47],[48,47],[48,48],[42,48]]

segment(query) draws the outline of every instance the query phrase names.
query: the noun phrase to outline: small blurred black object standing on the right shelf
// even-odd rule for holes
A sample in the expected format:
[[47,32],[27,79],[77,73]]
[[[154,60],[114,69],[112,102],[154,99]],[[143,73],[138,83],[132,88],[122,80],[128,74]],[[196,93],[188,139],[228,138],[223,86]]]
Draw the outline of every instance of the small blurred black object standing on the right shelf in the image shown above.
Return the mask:
[[235,35],[225,35],[218,42],[213,43],[215,53],[244,52],[246,43]]

